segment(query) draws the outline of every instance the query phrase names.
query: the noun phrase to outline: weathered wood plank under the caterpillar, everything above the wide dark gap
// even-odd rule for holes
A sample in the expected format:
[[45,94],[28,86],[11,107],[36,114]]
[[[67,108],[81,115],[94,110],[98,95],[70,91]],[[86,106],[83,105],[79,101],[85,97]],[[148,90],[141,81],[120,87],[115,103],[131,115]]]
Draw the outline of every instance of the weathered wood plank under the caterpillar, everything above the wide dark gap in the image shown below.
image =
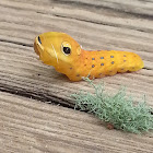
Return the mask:
[[[139,9],[133,9],[132,13],[130,10],[123,12],[125,8],[132,7],[131,1],[93,2],[0,1],[0,90],[71,106],[70,93],[78,89],[91,90],[85,87],[86,83],[71,83],[51,67],[36,60],[34,37],[46,31],[60,31],[70,34],[86,49],[119,49],[139,54],[144,60],[143,70],[102,80],[107,83],[108,91],[115,92],[122,84],[137,97],[145,94],[148,103],[153,105],[152,2],[134,1],[133,5]],[[138,16],[141,11],[145,11],[149,17]]]

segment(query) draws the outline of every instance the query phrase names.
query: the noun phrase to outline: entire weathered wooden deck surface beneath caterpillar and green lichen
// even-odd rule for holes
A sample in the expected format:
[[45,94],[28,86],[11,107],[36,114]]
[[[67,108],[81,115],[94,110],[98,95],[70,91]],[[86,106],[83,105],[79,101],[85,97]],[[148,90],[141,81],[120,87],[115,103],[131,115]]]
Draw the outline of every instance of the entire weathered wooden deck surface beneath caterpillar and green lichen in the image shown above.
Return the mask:
[[84,49],[139,54],[144,69],[95,82],[103,80],[108,93],[126,85],[136,99],[145,94],[153,107],[152,8],[153,0],[0,0],[0,152],[151,153],[152,133],[109,131],[92,115],[72,109],[70,94],[92,89],[38,61],[33,42],[58,31]]

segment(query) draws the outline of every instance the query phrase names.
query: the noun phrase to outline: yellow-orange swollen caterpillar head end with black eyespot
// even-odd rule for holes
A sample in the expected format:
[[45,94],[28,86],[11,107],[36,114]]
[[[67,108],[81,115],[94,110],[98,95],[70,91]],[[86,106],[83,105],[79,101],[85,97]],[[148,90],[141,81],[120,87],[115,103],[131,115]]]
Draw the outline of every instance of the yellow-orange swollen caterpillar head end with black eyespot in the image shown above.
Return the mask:
[[58,32],[48,32],[37,36],[34,49],[44,63],[55,68],[69,66],[81,55],[80,45],[69,35]]

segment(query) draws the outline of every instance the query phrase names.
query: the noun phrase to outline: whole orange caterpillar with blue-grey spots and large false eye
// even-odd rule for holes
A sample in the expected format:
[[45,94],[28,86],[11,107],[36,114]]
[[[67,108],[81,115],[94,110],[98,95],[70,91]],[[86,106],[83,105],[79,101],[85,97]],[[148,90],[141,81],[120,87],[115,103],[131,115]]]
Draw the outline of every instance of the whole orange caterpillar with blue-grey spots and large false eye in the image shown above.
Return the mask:
[[137,54],[116,50],[86,51],[64,33],[49,32],[37,36],[34,49],[44,63],[54,66],[71,81],[80,81],[82,76],[94,79],[143,68],[143,61]]

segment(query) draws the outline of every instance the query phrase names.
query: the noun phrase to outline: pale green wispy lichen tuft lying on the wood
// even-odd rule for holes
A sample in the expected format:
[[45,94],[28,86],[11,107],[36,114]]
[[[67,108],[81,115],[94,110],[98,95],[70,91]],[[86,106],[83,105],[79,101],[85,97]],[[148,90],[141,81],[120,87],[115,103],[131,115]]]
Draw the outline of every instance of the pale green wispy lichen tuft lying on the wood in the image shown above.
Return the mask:
[[94,93],[79,92],[72,94],[75,99],[75,108],[87,110],[103,121],[110,123],[115,129],[133,133],[142,133],[153,130],[153,109],[146,105],[145,98],[134,103],[133,98],[126,95],[126,90],[119,90],[115,95],[106,94],[104,83],[94,84],[86,80],[94,87]]

